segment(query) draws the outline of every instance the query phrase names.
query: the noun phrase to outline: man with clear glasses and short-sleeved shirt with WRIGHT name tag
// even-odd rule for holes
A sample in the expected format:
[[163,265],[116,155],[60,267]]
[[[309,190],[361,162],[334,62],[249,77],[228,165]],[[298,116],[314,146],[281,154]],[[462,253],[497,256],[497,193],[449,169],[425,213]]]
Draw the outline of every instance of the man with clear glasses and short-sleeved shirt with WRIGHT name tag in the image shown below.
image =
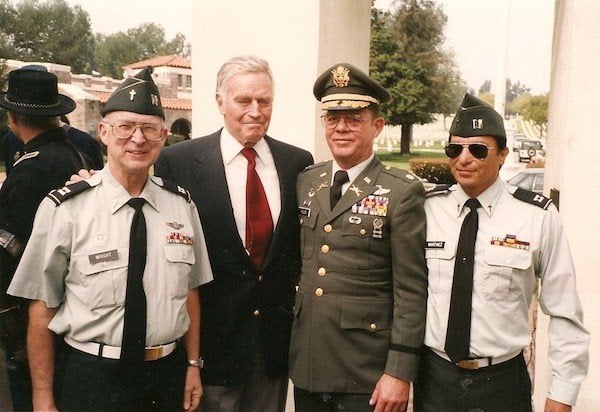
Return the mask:
[[44,199],[8,291],[33,300],[34,408],[195,409],[197,287],[212,272],[189,192],[148,174],[167,135],[151,69],[126,79],[102,115],[107,166]]

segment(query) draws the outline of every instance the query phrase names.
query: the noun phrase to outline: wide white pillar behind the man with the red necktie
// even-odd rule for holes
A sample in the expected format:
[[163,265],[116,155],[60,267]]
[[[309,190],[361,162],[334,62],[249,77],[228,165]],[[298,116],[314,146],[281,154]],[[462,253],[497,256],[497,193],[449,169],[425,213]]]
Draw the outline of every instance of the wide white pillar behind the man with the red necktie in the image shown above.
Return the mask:
[[275,78],[269,135],[331,158],[312,88],[338,62],[368,71],[371,1],[195,1],[192,13],[194,137],[223,124],[215,103],[219,67],[233,56],[266,59]]

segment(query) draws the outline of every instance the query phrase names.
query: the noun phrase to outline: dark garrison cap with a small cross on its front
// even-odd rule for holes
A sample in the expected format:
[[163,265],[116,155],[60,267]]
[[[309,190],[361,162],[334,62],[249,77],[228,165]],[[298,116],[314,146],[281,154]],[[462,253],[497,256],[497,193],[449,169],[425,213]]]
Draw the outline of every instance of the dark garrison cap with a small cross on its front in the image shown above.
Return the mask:
[[160,116],[164,120],[165,111],[162,108],[158,87],[152,79],[152,70],[152,67],[146,67],[135,76],[123,80],[100,111],[102,116],[122,110]]

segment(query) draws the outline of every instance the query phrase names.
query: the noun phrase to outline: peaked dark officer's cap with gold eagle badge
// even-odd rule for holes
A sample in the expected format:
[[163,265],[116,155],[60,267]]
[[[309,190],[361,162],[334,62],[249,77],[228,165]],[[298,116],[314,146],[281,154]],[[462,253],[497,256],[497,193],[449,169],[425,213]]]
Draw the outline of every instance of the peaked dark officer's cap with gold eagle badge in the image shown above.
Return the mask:
[[390,94],[362,70],[338,63],[325,70],[313,87],[323,110],[358,110],[390,100]]

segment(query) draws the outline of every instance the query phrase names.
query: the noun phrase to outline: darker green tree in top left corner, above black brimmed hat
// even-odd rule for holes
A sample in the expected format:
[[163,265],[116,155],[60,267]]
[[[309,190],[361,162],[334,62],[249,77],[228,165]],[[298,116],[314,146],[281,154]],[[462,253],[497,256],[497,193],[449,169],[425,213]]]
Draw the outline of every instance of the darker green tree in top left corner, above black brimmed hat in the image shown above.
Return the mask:
[[2,0],[0,16],[0,51],[6,58],[66,64],[75,73],[89,71],[94,39],[89,15],[81,6],[71,8],[65,0],[23,0],[13,7]]

